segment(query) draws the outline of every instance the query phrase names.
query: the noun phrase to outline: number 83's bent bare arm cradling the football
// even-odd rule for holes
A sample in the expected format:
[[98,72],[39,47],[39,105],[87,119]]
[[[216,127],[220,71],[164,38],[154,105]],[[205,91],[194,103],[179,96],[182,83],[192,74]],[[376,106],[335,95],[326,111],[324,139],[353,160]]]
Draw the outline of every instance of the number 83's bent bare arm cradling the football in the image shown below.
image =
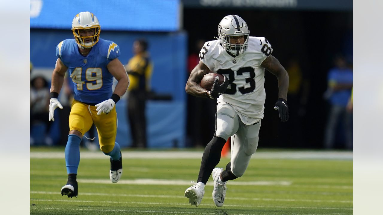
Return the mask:
[[200,86],[200,82],[203,76],[209,72],[210,69],[200,60],[190,73],[185,87],[186,92],[193,96],[206,97],[206,90]]

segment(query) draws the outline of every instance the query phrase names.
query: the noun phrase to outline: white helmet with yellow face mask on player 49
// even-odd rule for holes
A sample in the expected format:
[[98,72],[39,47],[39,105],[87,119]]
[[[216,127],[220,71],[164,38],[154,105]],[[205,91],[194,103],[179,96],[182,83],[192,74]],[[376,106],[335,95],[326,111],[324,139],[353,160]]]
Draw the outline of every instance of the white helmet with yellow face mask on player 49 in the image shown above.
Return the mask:
[[[92,36],[80,36],[81,29],[95,29],[95,33]],[[100,38],[100,23],[93,13],[90,12],[80,12],[72,20],[72,32],[74,38],[80,46],[84,48],[93,47]],[[84,39],[90,38],[92,41],[85,42]]]

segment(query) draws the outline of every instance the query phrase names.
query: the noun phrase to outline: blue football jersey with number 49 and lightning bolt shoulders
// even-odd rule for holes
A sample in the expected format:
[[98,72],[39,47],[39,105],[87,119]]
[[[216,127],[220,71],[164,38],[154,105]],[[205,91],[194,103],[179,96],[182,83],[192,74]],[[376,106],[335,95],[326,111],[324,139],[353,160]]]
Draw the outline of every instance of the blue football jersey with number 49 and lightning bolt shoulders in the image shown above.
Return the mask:
[[119,47],[112,41],[99,39],[84,57],[74,39],[61,41],[56,55],[68,67],[74,84],[74,99],[84,103],[100,103],[112,95],[113,75],[106,65],[119,56]]

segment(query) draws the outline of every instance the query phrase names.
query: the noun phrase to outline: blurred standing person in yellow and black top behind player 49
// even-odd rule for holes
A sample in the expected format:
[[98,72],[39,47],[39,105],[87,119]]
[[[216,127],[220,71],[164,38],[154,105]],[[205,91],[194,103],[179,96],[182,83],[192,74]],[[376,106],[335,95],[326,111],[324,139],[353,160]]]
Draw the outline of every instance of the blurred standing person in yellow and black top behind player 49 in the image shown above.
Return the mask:
[[148,43],[144,39],[133,42],[134,56],[126,65],[130,85],[128,88],[128,121],[131,129],[132,148],[146,148],[146,100],[150,91],[152,63],[147,52]]

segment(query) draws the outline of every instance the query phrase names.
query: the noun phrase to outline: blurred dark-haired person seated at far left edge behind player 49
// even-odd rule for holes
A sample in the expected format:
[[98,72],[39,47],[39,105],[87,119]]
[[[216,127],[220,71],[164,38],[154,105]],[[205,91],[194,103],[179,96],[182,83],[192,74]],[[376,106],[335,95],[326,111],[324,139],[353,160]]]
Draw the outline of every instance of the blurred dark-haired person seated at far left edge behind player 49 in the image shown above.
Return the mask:
[[[49,99],[50,93],[48,83],[42,76],[36,76],[31,80],[30,90],[30,127],[33,128],[36,124],[44,124],[44,144],[52,145],[52,139],[49,137],[48,132],[51,128],[51,122],[49,118]],[[31,138],[31,145],[34,144],[33,138]]]

